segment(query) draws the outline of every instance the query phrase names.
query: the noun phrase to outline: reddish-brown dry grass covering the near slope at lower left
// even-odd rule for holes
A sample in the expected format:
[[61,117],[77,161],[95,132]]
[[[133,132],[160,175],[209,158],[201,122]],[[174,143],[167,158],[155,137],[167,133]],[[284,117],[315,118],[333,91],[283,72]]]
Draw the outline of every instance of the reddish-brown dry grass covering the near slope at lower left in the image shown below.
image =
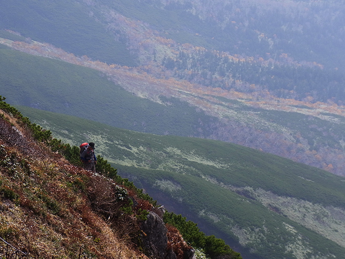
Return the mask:
[[0,117],[0,257],[146,258],[91,206],[88,190],[103,188],[98,202],[114,205],[106,199],[112,184],[35,143],[6,116]]

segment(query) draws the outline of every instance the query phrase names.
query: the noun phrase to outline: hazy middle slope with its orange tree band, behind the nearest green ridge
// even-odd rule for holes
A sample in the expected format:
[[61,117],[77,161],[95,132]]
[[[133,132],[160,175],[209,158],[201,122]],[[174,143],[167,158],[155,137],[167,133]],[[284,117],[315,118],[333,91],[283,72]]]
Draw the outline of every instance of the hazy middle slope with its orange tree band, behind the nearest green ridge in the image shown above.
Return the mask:
[[[337,105],[256,100],[249,94],[203,89],[173,79],[156,79],[131,68],[84,60],[47,44],[2,43],[101,71],[3,47],[1,93],[10,104],[137,131],[234,142],[344,173],[345,110]],[[126,92],[109,78],[145,99]]]

